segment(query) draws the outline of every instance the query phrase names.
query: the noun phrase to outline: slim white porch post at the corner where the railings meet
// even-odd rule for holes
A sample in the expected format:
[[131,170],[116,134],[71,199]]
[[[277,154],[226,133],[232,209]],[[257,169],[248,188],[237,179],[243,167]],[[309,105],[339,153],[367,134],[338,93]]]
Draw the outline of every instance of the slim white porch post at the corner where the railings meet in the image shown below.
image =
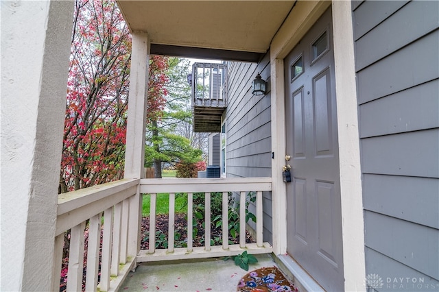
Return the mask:
[[[126,133],[125,178],[143,178],[145,160],[145,123],[150,40],[145,32],[132,33],[130,97]],[[140,250],[141,195],[130,198],[128,226],[128,256]]]

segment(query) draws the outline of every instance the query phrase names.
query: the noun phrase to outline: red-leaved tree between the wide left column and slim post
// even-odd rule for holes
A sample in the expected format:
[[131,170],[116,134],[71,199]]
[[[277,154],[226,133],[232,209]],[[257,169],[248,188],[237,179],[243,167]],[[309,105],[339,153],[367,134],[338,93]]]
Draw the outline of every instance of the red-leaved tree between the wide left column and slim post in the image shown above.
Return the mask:
[[114,1],[75,1],[59,193],[122,178],[130,54]]

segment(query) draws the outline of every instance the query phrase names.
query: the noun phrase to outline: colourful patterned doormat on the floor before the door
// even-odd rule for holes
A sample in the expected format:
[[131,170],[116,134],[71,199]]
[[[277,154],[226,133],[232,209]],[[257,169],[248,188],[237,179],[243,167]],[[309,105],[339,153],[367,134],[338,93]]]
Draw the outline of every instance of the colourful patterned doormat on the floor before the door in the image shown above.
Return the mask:
[[263,291],[294,291],[298,289],[289,282],[277,267],[263,267],[255,269],[239,280],[237,292]]

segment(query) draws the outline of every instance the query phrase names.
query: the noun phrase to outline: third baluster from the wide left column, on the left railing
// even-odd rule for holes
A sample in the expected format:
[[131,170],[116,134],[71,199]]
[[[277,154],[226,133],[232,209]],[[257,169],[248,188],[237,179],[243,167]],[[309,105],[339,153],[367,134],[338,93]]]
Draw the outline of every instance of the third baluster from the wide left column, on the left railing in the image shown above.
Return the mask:
[[101,241],[101,219],[102,213],[99,213],[98,215],[91,217],[88,223],[87,272],[85,281],[86,291],[97,290],[99,244]]

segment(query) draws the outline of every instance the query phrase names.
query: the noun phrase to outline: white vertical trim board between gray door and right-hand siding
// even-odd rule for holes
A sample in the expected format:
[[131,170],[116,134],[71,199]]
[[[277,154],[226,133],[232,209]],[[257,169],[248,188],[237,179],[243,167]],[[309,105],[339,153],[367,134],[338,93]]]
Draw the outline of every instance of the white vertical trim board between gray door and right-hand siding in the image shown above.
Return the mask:
[[365,291],[364,219],[351,1],[332,1],[344,290]]

